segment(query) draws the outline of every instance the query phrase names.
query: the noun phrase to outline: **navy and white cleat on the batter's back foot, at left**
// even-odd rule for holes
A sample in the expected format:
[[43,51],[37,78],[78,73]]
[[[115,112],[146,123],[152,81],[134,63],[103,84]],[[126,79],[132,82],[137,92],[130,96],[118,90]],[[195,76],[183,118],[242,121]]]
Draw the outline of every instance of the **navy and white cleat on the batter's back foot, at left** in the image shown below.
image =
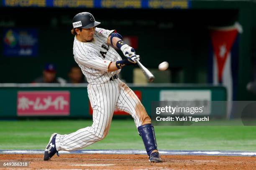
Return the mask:
[[51,159],[51,157],[53,157],[55,153],[59,156],[59,153],[56,150],[56,144],[55,144],[56,135],[57,133],[54,133],[51,135],[49,143],[44,150],[44,160]]

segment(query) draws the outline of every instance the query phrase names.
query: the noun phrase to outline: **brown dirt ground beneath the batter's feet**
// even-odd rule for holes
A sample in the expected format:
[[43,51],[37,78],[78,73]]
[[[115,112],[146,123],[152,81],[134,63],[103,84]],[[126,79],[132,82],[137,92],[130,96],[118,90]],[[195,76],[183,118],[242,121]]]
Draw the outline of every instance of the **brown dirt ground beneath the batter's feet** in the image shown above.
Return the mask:
[[[256,170],[256,157],[162,155],[163,163],[150,163],[147,155],[61,154],[49,161],[39,154],[0,154],[0,162],[28,161],[29,167],[12,170]],[[0,168],[0,170],[5,169]]]

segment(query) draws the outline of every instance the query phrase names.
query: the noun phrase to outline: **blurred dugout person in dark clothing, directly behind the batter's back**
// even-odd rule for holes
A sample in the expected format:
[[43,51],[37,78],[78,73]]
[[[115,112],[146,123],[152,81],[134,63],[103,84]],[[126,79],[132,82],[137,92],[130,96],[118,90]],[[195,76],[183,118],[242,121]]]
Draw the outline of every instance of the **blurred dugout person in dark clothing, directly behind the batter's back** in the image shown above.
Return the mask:
[[69,77],[69,80],[67,81],[67,83],[74,83],[74,84],[87,83],[80,67],[78,66],[71,67],[68,77]]

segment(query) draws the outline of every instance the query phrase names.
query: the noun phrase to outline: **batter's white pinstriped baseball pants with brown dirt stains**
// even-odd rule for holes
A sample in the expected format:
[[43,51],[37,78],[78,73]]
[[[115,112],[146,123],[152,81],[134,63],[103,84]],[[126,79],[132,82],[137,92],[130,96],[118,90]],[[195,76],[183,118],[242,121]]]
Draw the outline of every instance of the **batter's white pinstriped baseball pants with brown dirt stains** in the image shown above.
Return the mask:
[[[138,126],[151,123],[141,101],[125,83],[119,79],[104,84],[88,85],[88,97],[93,109],[92,126],[68,135],[56,136],[56,149],[79,150],[105,138],[115,108],[128,112]],[[128,139],[127,139],[128,140]]]

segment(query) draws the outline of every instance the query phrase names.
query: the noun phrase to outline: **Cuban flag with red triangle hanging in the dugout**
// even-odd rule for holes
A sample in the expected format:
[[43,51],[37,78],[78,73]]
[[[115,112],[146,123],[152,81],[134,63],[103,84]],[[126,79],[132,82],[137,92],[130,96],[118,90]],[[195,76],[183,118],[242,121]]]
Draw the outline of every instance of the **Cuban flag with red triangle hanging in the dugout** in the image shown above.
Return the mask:
[[238,76],[238,39],[242,27],[235,23],[228,27],[210,27],[210,55],[208,81],[227,89],[227,118],[230,118],[231,101],[236,100]]

